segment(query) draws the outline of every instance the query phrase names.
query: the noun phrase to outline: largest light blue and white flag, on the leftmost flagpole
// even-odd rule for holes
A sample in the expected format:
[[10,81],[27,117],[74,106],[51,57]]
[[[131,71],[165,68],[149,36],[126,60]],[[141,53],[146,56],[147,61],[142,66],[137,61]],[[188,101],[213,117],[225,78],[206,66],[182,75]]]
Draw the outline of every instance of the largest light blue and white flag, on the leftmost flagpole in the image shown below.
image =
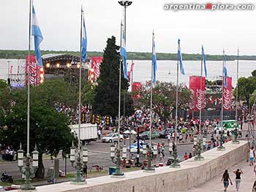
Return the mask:
[[34,52],[37,58],[37,64],[42,66],[42,56],[40,50],[40,43],[42,42],[42,33],[37,22],[36,12],[34,5],[32,6],[32,36],[34,36]]

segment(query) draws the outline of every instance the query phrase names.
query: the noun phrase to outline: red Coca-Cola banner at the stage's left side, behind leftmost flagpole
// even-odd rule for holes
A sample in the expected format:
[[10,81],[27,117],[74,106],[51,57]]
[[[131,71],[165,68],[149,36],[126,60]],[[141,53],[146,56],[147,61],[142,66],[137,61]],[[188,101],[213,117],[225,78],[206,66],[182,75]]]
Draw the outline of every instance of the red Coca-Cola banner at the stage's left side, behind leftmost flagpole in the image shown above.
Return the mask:
[[[30,58],[30,65],[29,65],[29,58]],[[28,68],[29,66],[29,68]],[[37,60],[35,55],[26,55],[26,85],[28,85],[28,69],[30,72],[30,85],[37,86],[39,85],[40,82],[40,77],[39,77],[39,71],[40,71],[40,66],[37,65]]]

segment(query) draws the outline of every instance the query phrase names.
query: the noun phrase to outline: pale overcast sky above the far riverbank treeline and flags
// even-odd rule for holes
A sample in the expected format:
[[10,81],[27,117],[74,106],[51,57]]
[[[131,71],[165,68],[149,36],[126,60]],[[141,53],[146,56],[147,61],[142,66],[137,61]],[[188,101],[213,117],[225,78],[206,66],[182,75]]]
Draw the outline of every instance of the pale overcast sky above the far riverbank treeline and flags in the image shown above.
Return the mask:
[[[80,4],[85,7],[88,50],[102,51],[108,37],[120,42],[122,8],[117,0],[34,0],[44,37],[42,50],[79,50]],[[155,31],[156,50],[176,53],[256,55],[256,9],[251,11],[164,10],[165,3],[217,3],[216,0],[134,0],[127,8],[127,50],[151,52]],[[255,0],[222,0],[222,3],[252,3]],[[28,47],[29,0],[0,0],[0,49]],[[34,49],[34,45],[32,46]]]

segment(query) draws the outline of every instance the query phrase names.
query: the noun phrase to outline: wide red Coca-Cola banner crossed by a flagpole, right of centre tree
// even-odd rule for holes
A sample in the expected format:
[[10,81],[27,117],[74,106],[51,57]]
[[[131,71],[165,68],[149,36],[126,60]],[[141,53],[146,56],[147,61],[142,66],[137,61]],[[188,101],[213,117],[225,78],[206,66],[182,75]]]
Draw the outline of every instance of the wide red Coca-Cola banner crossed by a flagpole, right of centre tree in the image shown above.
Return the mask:
[[200,90],[200,76],[189,77],[190,95],[189,109],[192,111],[203,110],[205,107],[206,78],[202,77],[202,90]]

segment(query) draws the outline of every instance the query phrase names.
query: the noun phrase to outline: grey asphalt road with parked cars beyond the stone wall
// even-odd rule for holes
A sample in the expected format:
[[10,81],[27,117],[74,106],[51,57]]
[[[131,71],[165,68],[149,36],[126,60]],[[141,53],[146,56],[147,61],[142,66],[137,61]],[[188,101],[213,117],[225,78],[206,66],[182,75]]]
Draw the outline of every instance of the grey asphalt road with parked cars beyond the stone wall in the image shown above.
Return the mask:
[[[164,141],[165,144],[167,144],[167,139],[154,139],[152,142],[162,142]],[[91,142],[89,145],[87,145],[89,149],[89,163],[88,167],[90,169],[93,165],[99,165],[103,166],[105,169],[109,166],[114,166],[115,164],[112,163],[110,159],[110,143],[102,143],[100,141],[98,142]],[[129,145],[129,141],[126,141],[126,145]],[[178,146],[178,156],[181,158],[184,153],[192,152],[192,145],[179,145]],[[128,155],[129,156],[129,155]],[[168,147],[165,147],[165,161],[167,161],[167,158],[169,156]],[[143,155],[140,156],[143,158]],[[141,159],[142,160],[142,159]],[[45,174],[47,174],[47,170],[50,166],[53,166],[53,162],[51,160],[45,160],[44,161],[45,166]],[[59,159],[59,168],[64,171],[65,164],[64,159]],[[11,174],[12,177],[15,179],[21,178],[21,174],[18,172],[18,164],[17,163],[8,163],[8,164],[0,164],[0,173],[4,172],[4,170],[7,170],[8,174]],[[67,159],[67,172],[75,172],[75,169],[72,168],[69,159]]]

